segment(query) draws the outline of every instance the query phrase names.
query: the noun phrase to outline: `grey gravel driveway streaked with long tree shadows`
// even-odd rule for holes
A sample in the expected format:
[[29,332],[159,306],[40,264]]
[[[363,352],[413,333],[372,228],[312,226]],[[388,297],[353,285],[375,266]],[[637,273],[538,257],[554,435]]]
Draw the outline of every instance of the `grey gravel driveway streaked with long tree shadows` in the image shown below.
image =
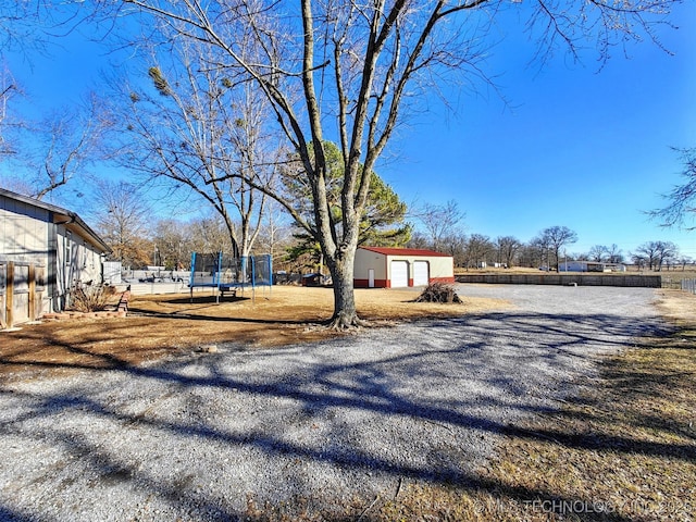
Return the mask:
[[[0,386],[0,520],[235,520],[475,481],[501,428],[664,327],[654,290],[465,286],[513,309]],[[1,341],[1,339],[0,339]]]

